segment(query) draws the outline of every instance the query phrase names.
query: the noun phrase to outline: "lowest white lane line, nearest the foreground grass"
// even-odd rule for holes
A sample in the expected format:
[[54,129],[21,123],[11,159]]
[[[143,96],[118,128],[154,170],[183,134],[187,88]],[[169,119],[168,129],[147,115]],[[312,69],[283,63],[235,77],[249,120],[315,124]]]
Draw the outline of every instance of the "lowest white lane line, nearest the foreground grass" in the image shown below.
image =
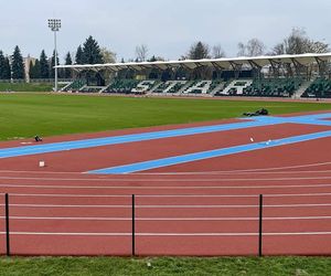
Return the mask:
[[[131,236],[132,233],[78,233],[78,232],[10,232],[11,235],[55,235],[55,236]],[[6,235],[6,232],[0,232]],[[258,233],[136,233],[136,236],[258,236]],[[331,232],[280,232],[264,233],[264,236],[331,235]]]

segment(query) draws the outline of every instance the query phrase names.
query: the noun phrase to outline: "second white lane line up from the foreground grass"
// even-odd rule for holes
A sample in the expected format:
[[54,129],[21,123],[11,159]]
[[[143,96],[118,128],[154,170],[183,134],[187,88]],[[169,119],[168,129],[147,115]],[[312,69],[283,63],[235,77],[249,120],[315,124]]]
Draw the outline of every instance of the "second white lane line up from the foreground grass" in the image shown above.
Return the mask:
[[[6,219],[6,216],[0,216]],[[264,221],[303,221],[303,220],[330,220],[331,216],[270,216]],[[31,221],[132,221],[131,217],[77,217],[77,216],[10,216],[10,220]],[[136,221],[258,221],[258,217],[136,217]]]

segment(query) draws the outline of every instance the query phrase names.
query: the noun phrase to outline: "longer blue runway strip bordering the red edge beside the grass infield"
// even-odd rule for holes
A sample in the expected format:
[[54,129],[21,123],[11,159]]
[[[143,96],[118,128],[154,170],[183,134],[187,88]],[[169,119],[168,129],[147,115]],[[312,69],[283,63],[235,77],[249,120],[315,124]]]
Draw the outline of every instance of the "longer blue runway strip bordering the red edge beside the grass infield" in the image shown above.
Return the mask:
[[225,131],[225,130],[233,130],[233,129],[243,129],[243,128],[250,128],[250,127],[261,127],[261,126],[278,125],[278,124],[286,124],[286,123],[331,126],[330,120],[321,120],[324,118],[331,118],[331,113],[305,115],[298,117],[261,116],[261,117],[249,118],[253,119],[253,121],[247,121],[243,119],[243,121],[241,123],[224,124],[224,125],[162,130],[162,131],[153,131],[153,132],[145,132],[145,134],[116,136],[116,137],[103,137],[103,138],[84,139],[84,140],[76,140],[76,141],[53,142],[53,144],[44,144],[38,146],[4,148],[4,149],[0,149],[0,159],[19,157],[19,156],[49,153],[49,152],[56,152],[56,151],[64,151],[64,150],[73,150],[73,149],[86,149],[86,148],[100,147],[100,146],[110,146],[110,145],[118,145],[118,144],[126,144],[126,142],[146,141],[146,140],[154,140],[154,139],[197,135],[197,134]]

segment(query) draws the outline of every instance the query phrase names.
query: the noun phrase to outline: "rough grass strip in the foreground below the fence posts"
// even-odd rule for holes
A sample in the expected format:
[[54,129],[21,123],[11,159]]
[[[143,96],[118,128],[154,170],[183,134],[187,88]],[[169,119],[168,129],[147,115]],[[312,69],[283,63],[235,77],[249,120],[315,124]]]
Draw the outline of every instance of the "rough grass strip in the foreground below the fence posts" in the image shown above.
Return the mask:
[[117,258],[58,257],[1,258],[2,276],[308,276],[330,275],[330,257]]

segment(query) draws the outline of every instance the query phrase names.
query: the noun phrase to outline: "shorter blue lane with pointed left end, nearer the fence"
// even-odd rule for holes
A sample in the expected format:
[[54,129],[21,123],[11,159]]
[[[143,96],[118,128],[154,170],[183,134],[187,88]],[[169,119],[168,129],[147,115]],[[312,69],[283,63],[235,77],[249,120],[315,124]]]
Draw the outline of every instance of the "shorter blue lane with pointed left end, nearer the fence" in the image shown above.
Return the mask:
[[172,164],[179,164],[179,163],[186,163],[192,161],[199,161],[203,159],[210,159],[214,157],[222,157],[222,156],[228,156],[234,153],[241,153],[244,151],[252,151],[252,150],[258,150],[258,149],[265,149],[270,147],[279,147],[284,145],[289,144],[297,144],[319,138],[327,138],[331,137],[331,130],[329,131],[322,131],[322,132],[316,132],[316,134],[309,134],[309,135],[300,135],[300,136],[293,136],[266,142],[255,142],[255,144],[248,144],[248,145],[241,145],[229,148],[221,148],[221,149],[214,149],[209,151],[201,151],[190,155],[183,155],[183,156],[175,156],[175,157],[169,157],[169,158],[162,158],[157,160],[150,160],[145,162],[137,162],[137,163],[130,163],[125,166],[118,166],[113,168],[106,168],[100,170],[94,170],[88,171],[88,173],[94,174],[115,174],[115,173],[130,173],[130,172],[137,172],[137,171],[145,171],[161,167],[168,167]]

